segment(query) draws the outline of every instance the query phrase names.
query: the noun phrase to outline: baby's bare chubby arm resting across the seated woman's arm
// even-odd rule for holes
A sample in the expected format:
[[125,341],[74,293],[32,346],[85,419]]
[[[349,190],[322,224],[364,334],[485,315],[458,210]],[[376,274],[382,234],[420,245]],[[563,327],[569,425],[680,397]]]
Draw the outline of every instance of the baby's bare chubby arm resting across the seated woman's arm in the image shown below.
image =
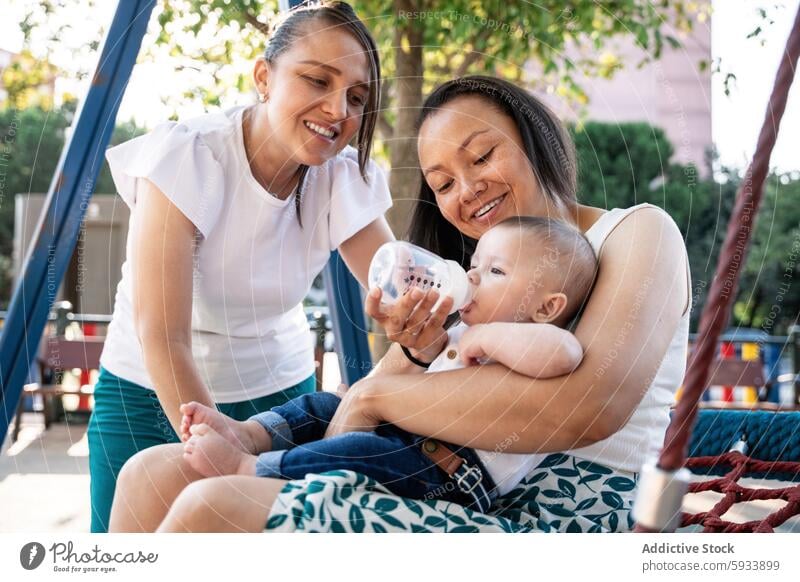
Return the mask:
[[531,378],[569,374],[583,359],[578,339],[549,323],[474,325],[464,332],[458,347],[467,365],[487,358]]

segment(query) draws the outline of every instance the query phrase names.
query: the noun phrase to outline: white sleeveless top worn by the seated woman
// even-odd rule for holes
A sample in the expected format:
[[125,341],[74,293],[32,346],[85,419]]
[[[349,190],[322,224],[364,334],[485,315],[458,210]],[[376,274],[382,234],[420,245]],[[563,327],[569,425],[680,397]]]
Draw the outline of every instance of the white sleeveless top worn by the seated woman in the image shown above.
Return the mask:
[[[639,204],[625,209],[615,208],[606,212],[586,231],[586,238],[589,239],[598,256],[606,238],[617,225],[625,217],[642,208],[658,209],[657,206],[651,204]],[[664,444],[664,436],[669,425],[670,407],[675,402],[675,393],[683,382],[686,372],[689,314],[691,312],[691,281],[688,279],[688,265],[687,257],[686,310],[672,336],[658,372],[630,420],[607,439],[588,447],[566,451],[567,454],[595,461],[613,469],[631,472],[638,472],[647,460],[658,455]]]

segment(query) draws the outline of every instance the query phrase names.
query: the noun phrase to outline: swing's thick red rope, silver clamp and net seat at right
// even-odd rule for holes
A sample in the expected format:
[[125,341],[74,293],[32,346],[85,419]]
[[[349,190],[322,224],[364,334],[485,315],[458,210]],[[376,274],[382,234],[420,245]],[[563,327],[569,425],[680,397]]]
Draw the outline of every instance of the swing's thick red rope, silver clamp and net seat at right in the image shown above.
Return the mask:
[[[736,480],[752,472],[762,472],[764,476],[773,477],[773,471],[783,478],[800,481],[800,413],[787,414],[786,417],[759,417],[756,426],[750,432],[741,427],[746,426],[752,414],[749,412],[727,411],[719,413],[719,422],[723,425],[739,427],[741,438],[732,446],[735,450],[725,454],[699,458],[688,466],[716,468],[727,464],[732,470],[722,479],[714,482],[696,484],[689,487],[689,471],[685,468],[689,438],[698,414],[698,401],[708,385],[709,369],[713,364],[714,352],[721,331],[725,328],[731,311],[731,302],[735,296],[739,279],[739,267],[744,262],[747,243],[753,229],[753,221],[758,213],[764,180],[769,172],[769,158],[778,137],[781,117],[786,109],[789,88],[792,85],[794,72],[800,57],[800,9],[795,16],[792,30],[786,42],[786,49],[781,58],[775,85],[767,106],[764,124],[758,137],[753,162],[747,168],[742,186],[736,196],[725,242],[720,254],[717,271],[711,284],[708,299],[700,318],[697,345],[689,362],[686,374],[683,397],[678,402],[672,422],[667,429],[665,445],[658,463],[646,466],[642,471],[638,486],[634,518],[636,530],[640,532],[674,531],[679,523],[703,523],[706,531],[772,531],[775,525],[783,523],[800,513],[800,485],[769,492],[767,490],[747,489],[739,486]],[[761,419],[764,419],[763,422]],[[702,420],[702,419],[701,419]],[[775,450],[767,451],[767,458],[755,458],[757,445],[765,438],[767,431],[785,421],[790,430],[786,438],[774,439]],[[697,430],[697,429],[695,429]],[[756,448],[752,445],[755,444]],[[745,455],[750,448],[751,457]],[[776,456],[786,451],[792,454],[791,462],[777,462]],[[762,463],[760,461],[767,461]],[[780,478],[780,477],[778,477]],[[710,512],[700,516],[685,516],[681,519],[681,503],[684,494],[691,491],[713,489],[725,494],[722,502]],[[774,497],[773,497],[774,496]],[[786,506],[769,515],[765,520],[748,524],[734,524],[721,519],[725,511],[737,501],[753,499],[784,499]]]

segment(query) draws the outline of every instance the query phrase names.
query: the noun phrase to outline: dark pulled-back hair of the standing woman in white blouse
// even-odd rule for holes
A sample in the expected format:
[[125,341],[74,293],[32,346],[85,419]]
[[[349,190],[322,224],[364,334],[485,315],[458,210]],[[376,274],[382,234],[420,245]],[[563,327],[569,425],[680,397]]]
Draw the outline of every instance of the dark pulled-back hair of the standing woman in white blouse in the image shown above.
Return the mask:
[[[274,63],[281,54],[291,48],[295,41],[302,39],[307,34],[307,24],[318,20],[327,22],[334,27],[341,27],[341,30],[349,32],[361,44],[367,55],[369,92],[356,138],[358,169],[361,177],[367,182],[367,164],[372,151],[372,137],[375,134],[375,125],[380,111],[381,64],[375,39],[372,38],[353,8],[346,2],[310,1],[289,10],[274,25],[267,41],[267,48],[264,50],[264,58],[268,63]],[[298,220],[300,220],[300,195],[308,173],[308,166],[301,166],[299,171],[300,179],[297,182],[297,196],[295,197]]]

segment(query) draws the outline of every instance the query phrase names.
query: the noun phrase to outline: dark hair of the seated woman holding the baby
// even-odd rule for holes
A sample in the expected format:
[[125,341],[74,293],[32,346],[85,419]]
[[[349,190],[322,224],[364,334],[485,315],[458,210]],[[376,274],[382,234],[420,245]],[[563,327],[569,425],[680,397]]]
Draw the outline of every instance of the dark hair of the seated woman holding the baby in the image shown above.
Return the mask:
[[[556,204],[570,207],[577,204],[572,139],[546,105],[513,83],[477,75],[448,81],[437,87],[423,103],[417,129],[447,103],[473,95],[514,121],[542,193]],[[419,199],[411,218],[408,240],[469,268],[477,241],[462,234],[442,216],[433,190],[424,176],[420,180]]]

